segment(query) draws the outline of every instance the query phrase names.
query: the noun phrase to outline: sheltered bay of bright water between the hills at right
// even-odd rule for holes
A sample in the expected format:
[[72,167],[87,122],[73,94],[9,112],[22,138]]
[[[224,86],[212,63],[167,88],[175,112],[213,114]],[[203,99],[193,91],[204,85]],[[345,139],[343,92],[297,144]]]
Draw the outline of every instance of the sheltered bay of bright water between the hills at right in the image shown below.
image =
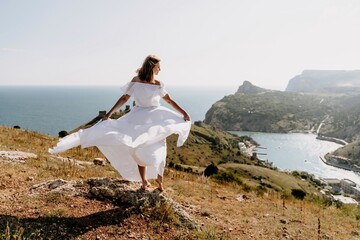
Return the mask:
[[360,185],[360,174],[325,164],[320,157],[342,145],[316,139],[306,133],[262,133],[234,131],[253,138],[260,148],[258,157],[284,171],[306,171],[320,178],[350,179]]

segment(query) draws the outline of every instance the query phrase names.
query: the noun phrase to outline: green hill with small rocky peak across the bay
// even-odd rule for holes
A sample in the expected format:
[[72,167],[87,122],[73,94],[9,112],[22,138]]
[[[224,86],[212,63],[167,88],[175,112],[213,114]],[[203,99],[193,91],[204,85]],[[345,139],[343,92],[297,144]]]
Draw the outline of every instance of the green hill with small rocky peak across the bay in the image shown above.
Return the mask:
[[[313,132],[347,142],[360,139],[360,94],[299,93],[263,89],[245,81],[207,111],[204,122],[222,130]],[[358,154],[349,145],[341,155]]]

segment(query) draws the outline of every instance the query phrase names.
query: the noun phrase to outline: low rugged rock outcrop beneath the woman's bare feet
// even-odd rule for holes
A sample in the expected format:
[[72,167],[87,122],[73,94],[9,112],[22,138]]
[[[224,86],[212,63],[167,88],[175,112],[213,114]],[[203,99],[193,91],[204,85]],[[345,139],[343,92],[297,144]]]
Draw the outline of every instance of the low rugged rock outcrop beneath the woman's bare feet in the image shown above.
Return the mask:
[[183,210],[183,207],[161,194],[158,190],[144,191],[140,183],[114,178],[90,178],[79,181],[63,179],[39,183],[29,189],[29,194],[63,194],[65,196],[83,196],[100,201],[110,201],[115,205],[136,208],[153,208],[164,202],[172,206],[174,212],[188,227],[198,228],[197,223]]

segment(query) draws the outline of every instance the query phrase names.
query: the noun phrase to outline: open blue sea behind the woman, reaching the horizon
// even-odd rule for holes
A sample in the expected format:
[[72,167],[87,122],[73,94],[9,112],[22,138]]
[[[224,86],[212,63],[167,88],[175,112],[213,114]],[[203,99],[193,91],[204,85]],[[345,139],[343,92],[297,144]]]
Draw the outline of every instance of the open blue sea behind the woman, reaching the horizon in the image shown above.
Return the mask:
[[[0,125],[57,136],[108,111],[121,95],[121,86],[0,86]],[[167,86],[170,96],[190,114],[203,120],[217,100],[235,87]],[[132,99],[127,103],[132,105]],[[167,103],[162,103],[168,106]],[[123,107],[124,108],[124,107]],[[171,108],[171,107],[170,107]]]

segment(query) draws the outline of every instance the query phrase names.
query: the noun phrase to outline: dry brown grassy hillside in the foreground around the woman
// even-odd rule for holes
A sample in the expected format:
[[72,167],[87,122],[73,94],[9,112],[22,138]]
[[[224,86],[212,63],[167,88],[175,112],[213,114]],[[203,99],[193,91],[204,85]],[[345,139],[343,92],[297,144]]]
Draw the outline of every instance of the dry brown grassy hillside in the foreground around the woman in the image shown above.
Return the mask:
[[[193,126],[192,130],[184,148],[172,149],[173,140],[169,139],[168,162],[189,166],[194,163],[199,167],[232,157],[228,148],[233,136],[212,131],[208,126]],[[54,137],[0,126],[0,151],[37,155],[17,163],[0,156],[0,239],[16,236],[17,239],[349,240],[360,235],[359,207],[329,205],[321,200],[317,187],[310,182],[235,161],[219,162],[220,172],[211,178],[167,167],[164,195],[179,203],[199,229],[181,224],[166,204],[144,209],[141,205],[119,206],[86,196],[32,196],[29,189],[48,180],[120,177],[109,165],[70,161],[90,163],[93,158],[101,157],[94,148],[61,154],[70,160],[50,156],[46,150],[56,141]],[[251,163],[245,156],[241,157]],[[292,189],[305,191],[305,199],[294,198]]]

